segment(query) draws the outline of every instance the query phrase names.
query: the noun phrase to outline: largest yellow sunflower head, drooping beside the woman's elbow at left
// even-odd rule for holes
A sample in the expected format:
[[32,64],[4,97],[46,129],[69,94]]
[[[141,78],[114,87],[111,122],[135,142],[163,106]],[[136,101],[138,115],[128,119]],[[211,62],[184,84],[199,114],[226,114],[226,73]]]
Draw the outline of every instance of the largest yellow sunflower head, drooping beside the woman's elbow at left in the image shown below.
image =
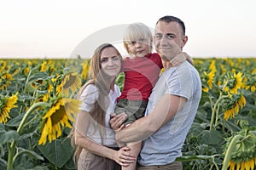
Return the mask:
[[79,111],[80,101],[76,99],[55,99],[49,111],[43,117],[43,129],[38,144],[45,144],[47,138],[49,142],[61,136],[61,127],[70,127],[70,122],[74,122],[74,117]]

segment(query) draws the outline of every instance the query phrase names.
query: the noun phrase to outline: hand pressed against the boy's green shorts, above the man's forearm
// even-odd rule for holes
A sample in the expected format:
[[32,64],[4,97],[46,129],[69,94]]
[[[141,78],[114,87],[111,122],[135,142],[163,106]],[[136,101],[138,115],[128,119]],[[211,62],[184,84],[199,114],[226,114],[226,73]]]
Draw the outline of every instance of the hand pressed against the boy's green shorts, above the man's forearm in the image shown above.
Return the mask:
[[123,122],[125,122],[127,115],[125,113],[121,113],[119,115],[116,115],[115,113],[110,115],[110,127],[118,133],[121,129],[123,129],[125,126],[122,125]]

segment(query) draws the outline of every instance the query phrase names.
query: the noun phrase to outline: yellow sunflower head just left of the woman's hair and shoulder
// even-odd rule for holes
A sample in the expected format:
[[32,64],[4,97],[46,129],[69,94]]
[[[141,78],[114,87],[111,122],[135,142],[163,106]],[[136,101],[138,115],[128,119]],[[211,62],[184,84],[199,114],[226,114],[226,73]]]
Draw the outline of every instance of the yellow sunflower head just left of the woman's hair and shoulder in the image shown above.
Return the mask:
[[81,80],[77,72],[66,74],[61,82],[61,87],[57,87],[58,90],[62,90],[64,96],[68,95],[69,89],[74,93],[81,87]]

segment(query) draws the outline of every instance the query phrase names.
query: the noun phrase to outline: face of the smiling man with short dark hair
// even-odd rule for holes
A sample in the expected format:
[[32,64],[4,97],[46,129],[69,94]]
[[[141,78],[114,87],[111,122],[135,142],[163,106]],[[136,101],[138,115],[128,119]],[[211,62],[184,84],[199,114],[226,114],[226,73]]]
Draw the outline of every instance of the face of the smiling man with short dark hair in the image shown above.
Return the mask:
[[177,22],[166,23],[160,21],[155,26],[154,46],[155,50],[165,59],[171,59],[180,53],[188,37],[182,33],[182,28]]

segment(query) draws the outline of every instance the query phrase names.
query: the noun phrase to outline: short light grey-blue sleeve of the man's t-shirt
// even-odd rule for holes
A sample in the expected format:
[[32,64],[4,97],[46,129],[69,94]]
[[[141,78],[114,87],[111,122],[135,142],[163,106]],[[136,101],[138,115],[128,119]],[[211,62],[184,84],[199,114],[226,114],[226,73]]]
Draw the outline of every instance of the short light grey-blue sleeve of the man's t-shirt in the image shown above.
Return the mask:
[[188,65],[181,65],[173,69],[166,84],[166,94],[190,99],[193,94],[193,80]]

